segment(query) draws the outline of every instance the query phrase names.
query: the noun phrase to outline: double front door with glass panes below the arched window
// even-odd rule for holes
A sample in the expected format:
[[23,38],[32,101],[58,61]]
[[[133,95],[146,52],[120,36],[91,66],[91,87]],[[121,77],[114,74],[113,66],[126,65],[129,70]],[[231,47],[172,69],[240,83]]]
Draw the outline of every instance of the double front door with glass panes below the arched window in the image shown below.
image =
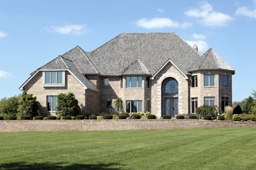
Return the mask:
[[164,115],[178,115],[178,98],[164,98]]

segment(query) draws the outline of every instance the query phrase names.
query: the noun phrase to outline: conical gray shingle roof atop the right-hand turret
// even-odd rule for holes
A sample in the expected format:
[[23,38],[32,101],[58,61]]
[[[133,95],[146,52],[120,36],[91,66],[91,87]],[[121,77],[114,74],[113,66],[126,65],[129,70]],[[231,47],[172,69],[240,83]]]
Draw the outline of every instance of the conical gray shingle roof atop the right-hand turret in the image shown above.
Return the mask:
[[224,69],[235,74],[235,70],[211,48],[207,50],[202,57],[196,60],[191,67],[188,68],[188,72],[200,69]]

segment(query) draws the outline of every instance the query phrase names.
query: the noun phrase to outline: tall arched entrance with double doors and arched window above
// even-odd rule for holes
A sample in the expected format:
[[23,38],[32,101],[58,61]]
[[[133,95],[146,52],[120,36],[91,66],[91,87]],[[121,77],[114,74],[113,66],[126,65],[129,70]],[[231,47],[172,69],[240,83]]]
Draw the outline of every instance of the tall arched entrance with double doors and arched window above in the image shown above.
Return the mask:
[[176,79],[168,78],[162,83],[162,116],[178,115],[178,82]]

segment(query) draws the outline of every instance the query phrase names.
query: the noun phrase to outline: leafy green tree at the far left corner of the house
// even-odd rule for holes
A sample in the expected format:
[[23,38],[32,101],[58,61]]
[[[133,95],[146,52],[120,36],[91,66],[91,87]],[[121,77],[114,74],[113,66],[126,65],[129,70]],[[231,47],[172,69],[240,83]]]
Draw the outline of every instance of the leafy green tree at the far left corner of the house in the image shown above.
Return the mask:
[[26,91],[21,94],[21,99],[18,101],[17,117],[28,115],[31,118],[38,115],[38,101],[33,94],[27,94]]

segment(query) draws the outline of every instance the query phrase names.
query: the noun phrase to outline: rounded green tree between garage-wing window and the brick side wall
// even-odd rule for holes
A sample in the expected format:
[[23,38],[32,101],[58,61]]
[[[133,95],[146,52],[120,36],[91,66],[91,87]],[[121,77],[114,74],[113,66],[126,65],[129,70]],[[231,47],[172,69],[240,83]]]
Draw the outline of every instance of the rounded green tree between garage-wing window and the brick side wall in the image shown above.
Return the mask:
[[75,116],[78,115],[78,100],[73,93],[59,94],[57,96],[56,111],[59,116]]

